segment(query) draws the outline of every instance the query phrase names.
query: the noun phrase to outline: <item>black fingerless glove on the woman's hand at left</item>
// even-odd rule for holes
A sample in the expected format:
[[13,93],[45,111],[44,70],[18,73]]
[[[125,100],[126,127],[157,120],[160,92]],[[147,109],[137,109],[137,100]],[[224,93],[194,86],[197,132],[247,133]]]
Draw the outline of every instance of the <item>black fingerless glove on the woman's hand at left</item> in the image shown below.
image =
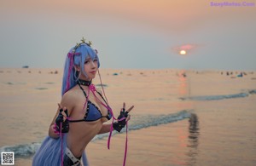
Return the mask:
[[[69,130],[69,121],[68,118],[66,118],[65,122],[62,113],[63,109],[61,108],[58,117],[56,117],[55,120],[55,133],[67,133]],[[67,115],[67,110],[64,111]],[[62,123],[62,124],[61,124]]]

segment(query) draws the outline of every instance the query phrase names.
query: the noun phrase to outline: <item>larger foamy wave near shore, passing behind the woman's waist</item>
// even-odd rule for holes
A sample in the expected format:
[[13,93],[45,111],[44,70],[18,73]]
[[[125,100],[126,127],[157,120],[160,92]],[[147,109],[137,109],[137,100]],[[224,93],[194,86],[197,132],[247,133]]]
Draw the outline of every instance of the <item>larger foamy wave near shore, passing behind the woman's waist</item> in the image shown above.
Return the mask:
[[[144,129],[152,126],[157,126],[165,123],[173,123],[191,116],[191,111],[183,110],[180,112],[167,114],[167,115],[146,115],[146,116],[137,116],[133,117],[133,122],[129,124],[129,130]],[[125,129],[122,129],[121,133],[125,132]],[[116,131],[113,131],[113,135],[117,134]],[[108,137],[107,134],[96,135],[92,141],[101,140]],[[32,157],[33,154],[38,150],[41,143],[33,142],[31,144],[23,144],[16,146],[2,146],[0,147],[0,152],[15,152],[15,158],[24,158]]]

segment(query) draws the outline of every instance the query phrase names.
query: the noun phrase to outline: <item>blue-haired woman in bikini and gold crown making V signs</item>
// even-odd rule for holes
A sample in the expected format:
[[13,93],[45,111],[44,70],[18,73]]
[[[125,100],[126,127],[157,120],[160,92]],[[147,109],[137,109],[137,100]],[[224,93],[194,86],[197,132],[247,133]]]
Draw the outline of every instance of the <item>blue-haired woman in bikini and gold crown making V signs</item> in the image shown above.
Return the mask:
[[[110,138],[113,129],[120,132],[130,120],[129,112],[134,106],[126,110],[124,103],[115,118],[103,87],[100,91],[92,84],[100,61],[91,43],[85,43],[84,38],[81,41],[67,54],[61,103],[49,125],[49,136],[33,157],[33,166],[89,165],[84,149],[90,140],[108,132]],[[111,118],[112,123],[104,124]]]

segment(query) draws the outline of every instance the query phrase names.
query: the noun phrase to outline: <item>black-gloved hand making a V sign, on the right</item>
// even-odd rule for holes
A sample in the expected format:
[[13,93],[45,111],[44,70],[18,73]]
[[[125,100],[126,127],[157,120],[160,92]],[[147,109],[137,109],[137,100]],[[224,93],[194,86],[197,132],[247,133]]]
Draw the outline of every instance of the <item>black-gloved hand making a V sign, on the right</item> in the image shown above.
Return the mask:
[[123,108],[121,108],[118,122],[113,123],[113,129],[117,130],[118,132],[121,131],[121,129],[125,128],[126,122],[128,122],[131,119],[131,115],[129,112],[134,108],[134,106],[131,106],[127,111],[125,111],[125,102],[123,104]]

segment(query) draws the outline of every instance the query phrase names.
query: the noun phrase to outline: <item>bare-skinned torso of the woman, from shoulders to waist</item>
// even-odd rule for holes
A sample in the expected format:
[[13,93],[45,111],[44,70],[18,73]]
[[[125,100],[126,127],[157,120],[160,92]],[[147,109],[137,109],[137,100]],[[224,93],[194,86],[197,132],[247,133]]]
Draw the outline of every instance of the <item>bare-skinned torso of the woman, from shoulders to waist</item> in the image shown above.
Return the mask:
[[[84,92],[88,96],[88,87],[82,86],[82,89],[84,89]],[[67,108],[72,109],[69,115],[71,120],[81,121],[81,119],[86,119],[85,114],[88,112],[88,102],[84,106],[86,98],[82,89],[79,88],[79,85],[76,85],[73,89],[70,89],[67,94],[65,94],[72,98],[72,100],[67,103]],[[102,96],[98,93],[95,94],[96,97],[92,94],[91,91],[89,93],[88,100],[90,100],[90,105],[94,105],[94,107],[90,107],[90,109],[93,108],[89,110],[90,114],[94,113],[95,115],[98,115],[98,113],[101,113],[102,116],[108,115],[108,109],[101,104],[101,102],[106,104],[102,99]],[[63,106],[65,106],[65,103]],[[106,117],[98,118],[97,116],[96,119],[91,118],[89,122],[81,121],[76,123],[69,123],[69,132],[67,133],[67,146],[73,152],[75,157],[80,157],[82,155],[84,148],[87,146],[90,140],[92,140],[99,133],[99,131],[102,129],[102,124],[107,121],[108,119]]]

